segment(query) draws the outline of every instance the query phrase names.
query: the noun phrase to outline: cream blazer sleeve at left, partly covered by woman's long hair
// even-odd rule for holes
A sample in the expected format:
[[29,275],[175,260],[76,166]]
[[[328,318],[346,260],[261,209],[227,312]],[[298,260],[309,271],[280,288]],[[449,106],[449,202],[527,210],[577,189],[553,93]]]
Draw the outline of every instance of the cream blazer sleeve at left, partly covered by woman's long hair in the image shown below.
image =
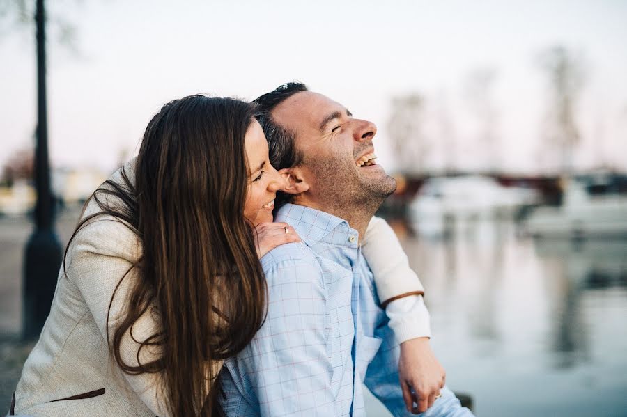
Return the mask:
[[[125,313],[127,296],[137,281],[133,265],[140,256],[139,238],[125,223],[114,217],[96,217],[79,230],[72,241],[66,265],[68,279],[77,285],[105,340],[107,332],[110,337],[113,336],[116,324]],[[111,297],[114,297],[113,302]],[[140,344],[135,341],[146,340],[159,328],[158,315],[148,308],[146,314],[132,326],[132,337],[127,333],[121,342],[123,361],[138,365],[138,357],[141,363],[159,357],[158,349],[147,346],[140,350]],[[121,374],[155,415],[169,416],[157,374],[128,375],[122,371]]]

